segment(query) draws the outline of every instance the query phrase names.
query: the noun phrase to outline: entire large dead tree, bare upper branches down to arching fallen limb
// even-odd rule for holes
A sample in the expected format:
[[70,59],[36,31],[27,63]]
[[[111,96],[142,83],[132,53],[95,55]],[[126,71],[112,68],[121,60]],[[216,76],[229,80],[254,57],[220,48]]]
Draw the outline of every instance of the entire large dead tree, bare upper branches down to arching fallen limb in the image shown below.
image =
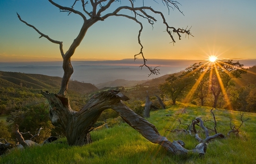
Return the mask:
[[[150,71],[150,74],[159,74],[159,70],[157,67],[151,68],[146,64],[146,58],[144,58],[143,54],[143,45],[141,42],[141,33],[143,31],[143,24],[139,20],[146,19],[150,25],[153,25],[156,21],[154,16],[152,15],[160,15],[160,19],[162,19],[163,24],[166,27],[166,32],[171,37],[171,41],[175,42],[174,34],[177,34],[178,38],[181,39],[181,33],[185,33],[186,35],[191,35],[190,29],[181,29],[175,28],[168,25],[166,22],[166,18],[162,12],[154,10],[153,7],[145,6],[144,1],[142,6],[135,6],[134,0],[126,1],[127,4],[125,6],[119,6],[114,8],[114,2],[119,2],[119,0],[100,0],[100,1],[77,1],[71,7],[61,6],[58,3],[53,2],[52,0],[48,0],[53,6],[60,9],[61,12],[68,12],[68,14],[76,14],[79,15],[83,24],[80,29],[79,34],[75,40],[73,40],[72,44],[69,46],[68,50],[64,52],[63,50],[63,42],[53,40],[51,37],[47,36],[39,31],[38,28],[34,27],[24,21],[20,15],[17,13],[18,18],[28,27],[33,28],[36,32],[40,34],[39,38],[46,38],[48,41],[59,45],[60,54],[63,58],[63,70],[64,75],[61,81],[61,87],[57,94],[41,92],[44,97],[47,98],[49,102],[49,117],[54,126],[58,126],[63,128],[65,131],[67,141],[69,145],[85,145],[92,143],[92,139],[90,138],[90,131],[92,131],[92,126],[105,109],[113,109],[117,111],[117,113],[135,130],[139,131],[146,139],[150,140],[152,143],[160,144],[168,151],[174,154],[186,154],[188,152],[195,153],[204,153],[202,150],[193,149],[187,150],[184,149],[177,141],[171,143],[159,134],[156,130],[155,126],[151,123],[147,122],[147,120],[141,118],[141,116],[135,114],[129,107],[125,106],[122,103],[124,96],[121,93],[117,92],[102,92],[99,94],[95,94],[92,98],[90,98],[89,102],[86,103],[84,107],[80,111],[73,111],[69,104],[69,100],[65,95],[67,94],[68,83],[71,75],[73,74],[73,67],[71,64],[71,57],[75,53],[76,48],[80,45],[81,41],[85,37],[86,32],[93,24],[98,21],[103,21],[110,16],[121,16],[123,18],[127,18],[133,20],[135,23],[139,24],[140,29],[138,33],[138,44],[141,46],[141,49],[138,54],[134,55],[134,59],[137,59],[138,55],[141,55],[143,58],[143,64],[141,67],[147,67]],[[75,6],[77,2],[81,2],[82,11],[75,10]],[[176,1],[163,0],[162,1],[165,6],[167,6],[168,10],[170,7],[174,6],[179,10],[179,3]],[[121,3],[122,4],[122,3]],[[91,11],[86,8],[90,5],[92,8]],[[105,13],[106,10],[113,10],[112,12]],[[131,15],[123,14],[122,11],[131,11],[125,13],[132,13]],[[180,11],[180,10],[179,10]],[[150,15],[150,14],[152,15]],[[19,136],[19,133],[18,133]],[[22,140],[22,136],[19,136],[20,142],[26,146],[26,142],[24,139]]]

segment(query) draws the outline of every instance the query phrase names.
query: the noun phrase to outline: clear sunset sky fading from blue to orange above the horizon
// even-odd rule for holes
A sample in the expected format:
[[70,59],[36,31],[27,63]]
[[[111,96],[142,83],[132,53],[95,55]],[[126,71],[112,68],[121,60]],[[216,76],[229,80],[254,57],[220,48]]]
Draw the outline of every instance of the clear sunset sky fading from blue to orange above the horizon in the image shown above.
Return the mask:
[[[55,0],[61,5],[72,6],[72,0]],[[126,5],[114,3],[113,8]],[[156,3],[159,2],[159,3]],[[162,1],[147,0],[145,6],[162,11],[169,25],[190,28],[194,37],[175,36],[176,43],[165,32],[159,15],[154,28],[142,20],[144,29],[141,41],[147,59],[204,60],[210,55],[219,59],[256,59],[256,1],[181,0],[180,10],[168,10]],[[141,5],[142,1],[136,1]],[[76,7],[80,7],[80,1]],[[113,8],[110,8],[113,9]],[[90,7],[88,6],[88,10]],[[0,1],[0,62],[62,61],[59,45],[49,42],[32,28],[19,21],[16,12],[27,23],[53,40],[63,41],[64,51],[76,38],[81,28],[79,15],[67,15],[43,0]],[[130,12],[128,14],[131,14]],[[140,27],[126,18],[111,17],[98,21],[85,35],[73,61],[120,60],[133,58],[140,51],[137,36]],[[255,63],[256,64],[256,63]]]

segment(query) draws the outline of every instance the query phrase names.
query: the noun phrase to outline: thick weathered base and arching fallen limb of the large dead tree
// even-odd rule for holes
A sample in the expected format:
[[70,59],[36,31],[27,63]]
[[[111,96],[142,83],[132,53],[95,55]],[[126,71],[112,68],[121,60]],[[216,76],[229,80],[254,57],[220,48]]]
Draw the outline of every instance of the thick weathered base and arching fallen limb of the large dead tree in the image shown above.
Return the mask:
[[69,106],[68,98],[57,94],[41,92],[48,100],[49,115],[54,126],[62,127],[67,136],[69,145],[85,145],[92,142],[89,132],[102,111],[115,110],[127,124],[137,130],[143,137],[152,143],[159,144],[174,154],[187,154],[194,152],[204,154],[203,150],[187,150],[177,141],[171,143],[161,136],[155,126],[129,109],[122,100],[127,97],[116,91],[94,94],[80,111],[73,111]]

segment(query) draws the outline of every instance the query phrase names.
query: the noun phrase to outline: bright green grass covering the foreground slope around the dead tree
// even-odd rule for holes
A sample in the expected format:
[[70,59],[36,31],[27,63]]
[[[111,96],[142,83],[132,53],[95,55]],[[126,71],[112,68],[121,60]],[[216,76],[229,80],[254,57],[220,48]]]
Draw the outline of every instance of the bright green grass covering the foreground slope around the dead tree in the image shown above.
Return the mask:
[[[184,133],[165,132],[176,128],[177,118],[183,123],[191,123],[196,116],[203,120],[213,120],[209,107],[174,106],[167,110],[152,111],[148,119],[158,128],[161,135],[168,140],[183,140],[186,149],[193,149],[198,144],[195,137]],[[171,116],[165,116],[171,114]],[[214,110],[217,119],[217,131],[226,134],[229,123],[240,125],[240,114],[236,111]],[[14,150],[0,157],[0,163],[254,163],[256,161],[256,114],[245,113],[244,118],[250,118],[241,127],[240,136],[230,136],[226,139],[215,139],[208,144],[207,153],[203,158],[195,154],[174,156],[158,144],[152,144],[144,139],[126,123],[113,128],[91,132],[93,143],[85,146],[68,146],[65,139],[62,143],[52,143],[36,146],[26,150]],[[237,120],[237,121],[235,121]],[[213,128],[213,123],[206,122]],[[200,132],[204,138],[204,132]],[[213,135],[213,132],[210,133]]]

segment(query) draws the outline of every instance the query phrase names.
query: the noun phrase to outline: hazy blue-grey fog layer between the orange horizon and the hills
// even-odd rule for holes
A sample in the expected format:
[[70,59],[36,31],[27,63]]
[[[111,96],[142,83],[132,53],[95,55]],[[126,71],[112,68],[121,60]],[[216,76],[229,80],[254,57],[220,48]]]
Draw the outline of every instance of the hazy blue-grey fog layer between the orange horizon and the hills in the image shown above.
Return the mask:
[[[240,61],[245,67],[256,65],[256,60],[234,60]],[[146,67],[139,67],[143,64],[142,59],[123,59],[120,61],[73,61],[74,73],[72,80],[84,83],[100,84],[116,79],[125,80],[148,80],[166,74],[180,72],[194,63],[207,62],[195,60],[168,60],[148,59],[147,64],[152,68],[156,66],[160,75],[151,75]],[[42,74],[48,76],[63,76],[62,62],[22,62],[22,63],[1,63],[0,71],[22,72],[26,74]]]

